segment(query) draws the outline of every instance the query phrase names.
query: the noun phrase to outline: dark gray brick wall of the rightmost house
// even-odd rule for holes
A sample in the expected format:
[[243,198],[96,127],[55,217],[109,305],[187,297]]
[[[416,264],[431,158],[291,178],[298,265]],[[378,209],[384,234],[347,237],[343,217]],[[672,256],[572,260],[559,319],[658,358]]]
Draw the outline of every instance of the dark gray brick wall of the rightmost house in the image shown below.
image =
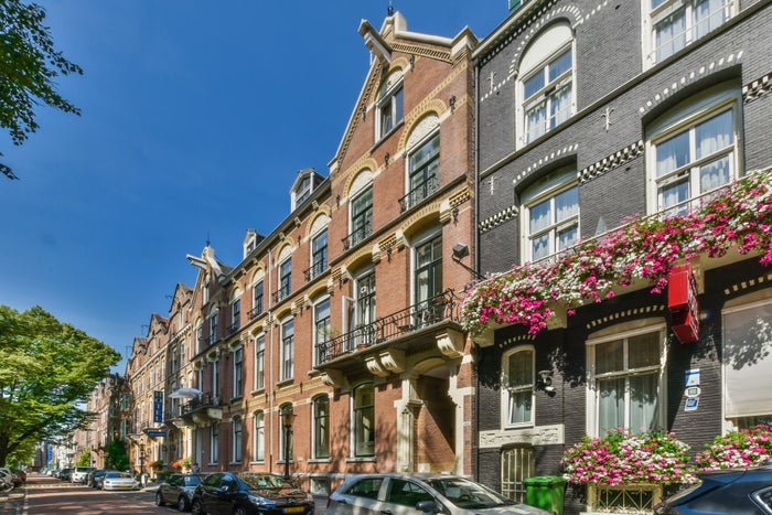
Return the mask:
[[[475,52],[481,271],[506,271],[521,262],[519,195],[534,181],[566,164],[575,167],[579,176],[582,238],[645,214],[646,126],[710,86],[730,82],[738,92],[744,88],[740,169],[772,165],[772,94],[753,86],[772,73],[772,2],[742,2],[740,12],[721,28],[647,69],[641,2],[554,0],[526,2],[521,11],[500,28],[497,37],[484,40]],[[538,30],[557,20],[568,20],[573,28],[576,115],[536,141],[516,148],[518,60]],[[709,271],[699,299],[700,340],[680,344],[671,334],[664,393],[667,429],[676,431],[695,452],[722,430],[721,309],[733,296],[764,288],[762,281],[739,292],[731,285],[765,273],[769,270],[758,258]],[[555,396],[536,394],[535,426],[558,425],[564,430],[559,444],[534,447],[536,474],[559,474],[564,450],[586,432],[586,341],[593,331],[612,325],[597,321],[633,312],[629,320],[661,318],[669,324],[666,304],[664,294],[639,290],[581,308],[568,318],[566,329],[544,331],[528,342],[536,348],[536,369],[556,371]],[[652,310],[643,312],[642,307]],[[494,345],[476,352],[480,432],[501,429],[501,356],[523,341],[517,335],[524,335],[523,328],[501,329]],[[685,372],[694,368],[700,369],[703,393],[698,409],[685,411]],[[502,481],[501,452],[501,448],[490,446],[476,451],[478,478],[494,487]],[[583,509],[570,490],[567,495],[567,513]]]

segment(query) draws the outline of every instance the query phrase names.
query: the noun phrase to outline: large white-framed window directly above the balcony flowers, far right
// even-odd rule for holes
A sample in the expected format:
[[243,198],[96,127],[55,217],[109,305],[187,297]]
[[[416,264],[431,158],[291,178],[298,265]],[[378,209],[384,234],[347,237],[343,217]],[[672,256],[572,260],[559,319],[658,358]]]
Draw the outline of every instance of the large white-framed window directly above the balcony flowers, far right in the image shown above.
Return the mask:
[[646,127],[650,212],[684,213],[693,199],[738,179],[739,111],[740,89],[726,83]]

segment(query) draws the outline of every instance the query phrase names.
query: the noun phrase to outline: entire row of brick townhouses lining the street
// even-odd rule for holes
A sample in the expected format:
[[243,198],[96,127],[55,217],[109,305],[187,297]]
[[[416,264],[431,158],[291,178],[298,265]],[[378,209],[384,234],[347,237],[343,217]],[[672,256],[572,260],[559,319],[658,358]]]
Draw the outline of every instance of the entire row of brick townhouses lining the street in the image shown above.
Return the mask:
[[[320,494],[452,472],[522,500],[583,434],[701,449],[772,419],[772,208],[742,189],[772,176],[772,4],[510,3],[482,40],[361,23],[371,67],[329,172],[298,173],[239,264],[187,256],[195,285],[135,340],[105,431],[132,466]],[[680,233],[657,239],[665,218]]]

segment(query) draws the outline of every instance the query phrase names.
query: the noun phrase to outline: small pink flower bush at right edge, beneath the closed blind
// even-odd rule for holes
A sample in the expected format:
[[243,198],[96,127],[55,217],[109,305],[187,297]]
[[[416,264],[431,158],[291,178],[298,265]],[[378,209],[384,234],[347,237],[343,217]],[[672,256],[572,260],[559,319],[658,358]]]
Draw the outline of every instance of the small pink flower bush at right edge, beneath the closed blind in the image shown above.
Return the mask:
[[718,436],[695,459],[698,469],[759,466],[772,459],[772,426],[759,425]]

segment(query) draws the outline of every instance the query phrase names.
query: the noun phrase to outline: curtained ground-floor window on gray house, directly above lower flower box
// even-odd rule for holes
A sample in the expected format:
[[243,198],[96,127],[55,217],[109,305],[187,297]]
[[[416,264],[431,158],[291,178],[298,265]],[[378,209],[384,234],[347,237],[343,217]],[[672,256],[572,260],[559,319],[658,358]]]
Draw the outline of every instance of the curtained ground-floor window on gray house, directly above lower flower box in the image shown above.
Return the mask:
[[632,432],[664,427],[665,325],[605,330],[587,342],[591,433],[626,428]]

